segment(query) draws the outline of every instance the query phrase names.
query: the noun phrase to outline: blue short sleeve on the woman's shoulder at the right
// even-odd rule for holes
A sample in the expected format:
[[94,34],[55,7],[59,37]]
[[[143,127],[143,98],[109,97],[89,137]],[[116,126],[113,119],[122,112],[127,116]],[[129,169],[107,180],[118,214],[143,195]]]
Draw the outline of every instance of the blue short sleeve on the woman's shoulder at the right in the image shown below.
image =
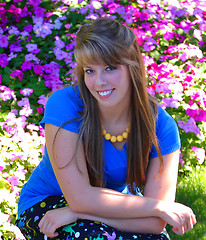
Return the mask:
[[[161,107],[158,107],[156,134],[162,155],[172,153],[181,147],[179,130],[175,120]],[[157,151],[152,145],[149,158],[157,157]]]

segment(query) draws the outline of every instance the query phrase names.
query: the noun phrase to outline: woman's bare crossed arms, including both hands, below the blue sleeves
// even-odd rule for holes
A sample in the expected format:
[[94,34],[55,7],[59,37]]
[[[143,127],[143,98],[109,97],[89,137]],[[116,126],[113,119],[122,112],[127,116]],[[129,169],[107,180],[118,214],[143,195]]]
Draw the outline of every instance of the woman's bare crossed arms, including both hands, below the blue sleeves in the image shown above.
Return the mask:
[[141,233],[158,234],[167,223],[173,226],[173,231],[177,234],[193,228],[196,219],[192,210],[174,202],[179,151],[163,156],[164,169],[158,178],[159,159],[151,159],[144,197],[127,195],[92,187],[89,183],[83,144],[79,146],[76,160],[72,160],[78,135],[64,129],[60,129],[56,135],[57,130],[58,127],[46,124],[46,145],[69,207],[45,214],[39,227],[47,236],[56,236],[56,228],[78,218],[104,222],[123,231]]

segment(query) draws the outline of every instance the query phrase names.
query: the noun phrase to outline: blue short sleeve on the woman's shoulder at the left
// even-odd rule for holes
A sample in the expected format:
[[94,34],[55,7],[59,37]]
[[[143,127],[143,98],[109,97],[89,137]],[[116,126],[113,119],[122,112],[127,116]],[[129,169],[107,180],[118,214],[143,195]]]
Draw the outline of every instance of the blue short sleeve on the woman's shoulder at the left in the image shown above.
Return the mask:
[[44,128],[45,123],[49,123],[79,133],[81,121],[77,119],[80,118],[82,109],[83,104],[79,97],[78,88],[75,90],[69,86],[57,90],[48,98],[40,125]]

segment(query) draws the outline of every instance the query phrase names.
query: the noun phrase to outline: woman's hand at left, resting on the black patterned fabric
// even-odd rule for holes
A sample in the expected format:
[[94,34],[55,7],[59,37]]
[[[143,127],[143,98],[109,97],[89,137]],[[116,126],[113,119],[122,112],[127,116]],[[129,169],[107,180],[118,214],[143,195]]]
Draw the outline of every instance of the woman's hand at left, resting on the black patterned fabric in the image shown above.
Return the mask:
[[77,214],[70,207],[63,207],[46,212],[39,222],[39,228],[47,237],[56,237],[56,229],[77,221]]

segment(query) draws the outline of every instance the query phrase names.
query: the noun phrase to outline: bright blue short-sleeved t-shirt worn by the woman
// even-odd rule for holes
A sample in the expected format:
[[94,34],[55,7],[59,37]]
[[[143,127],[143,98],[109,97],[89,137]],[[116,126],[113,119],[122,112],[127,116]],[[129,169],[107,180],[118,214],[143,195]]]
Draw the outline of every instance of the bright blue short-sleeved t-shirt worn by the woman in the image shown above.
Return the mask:
[[[83,109],[83,104],[79,97],[79,89],[78,87],[75,87],[75,89],[76,91],[71,86],[66,87],[54,92],[49,97],[44,118],[40,123],[42,127],[44,127],[45,123],[58,127],[64,125],[63,128],[68,131],[79,132],[80,120],[65,125],[66,121],[80,117],[80,112]],[[156,134],[163,155],[180,148],[177,125],[172,117],[161,107],[158,108]],[[126,146],[127,143],[125,143],[123,150],[117,150],[110,141],[104,140],[106,187],[119,192],[127,192],[125,191],[127,169]],[[157,156],[157,151],[152,146],[149,157],[151,159]],[[62,195],[62,191],[55,177],[45,146],[43,159],[22,188],[18,204],[18,215],[44,198],[52,195]]]

